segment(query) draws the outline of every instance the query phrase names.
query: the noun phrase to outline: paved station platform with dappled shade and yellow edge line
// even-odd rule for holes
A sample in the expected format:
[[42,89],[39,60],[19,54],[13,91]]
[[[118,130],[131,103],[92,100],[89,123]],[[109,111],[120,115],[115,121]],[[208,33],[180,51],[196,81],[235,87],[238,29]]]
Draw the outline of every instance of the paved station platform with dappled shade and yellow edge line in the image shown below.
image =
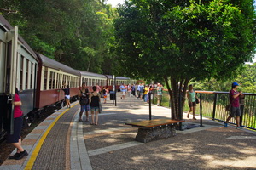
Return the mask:
[[[199,117],[187,119],[184,113],[183,125],[190,129],[168,139],[135,141],[137,128],[125,122],[148,120],[148,104],[119,95],[117,106],[102,104],[97,126],[79,122],[79,102],[56,111],[22,139],[29,155],[4,161],[0,170],[256,169],[256,133],[205,117],[197,127]],[[170,115],[170,109],[152,105],[153,119]]]

